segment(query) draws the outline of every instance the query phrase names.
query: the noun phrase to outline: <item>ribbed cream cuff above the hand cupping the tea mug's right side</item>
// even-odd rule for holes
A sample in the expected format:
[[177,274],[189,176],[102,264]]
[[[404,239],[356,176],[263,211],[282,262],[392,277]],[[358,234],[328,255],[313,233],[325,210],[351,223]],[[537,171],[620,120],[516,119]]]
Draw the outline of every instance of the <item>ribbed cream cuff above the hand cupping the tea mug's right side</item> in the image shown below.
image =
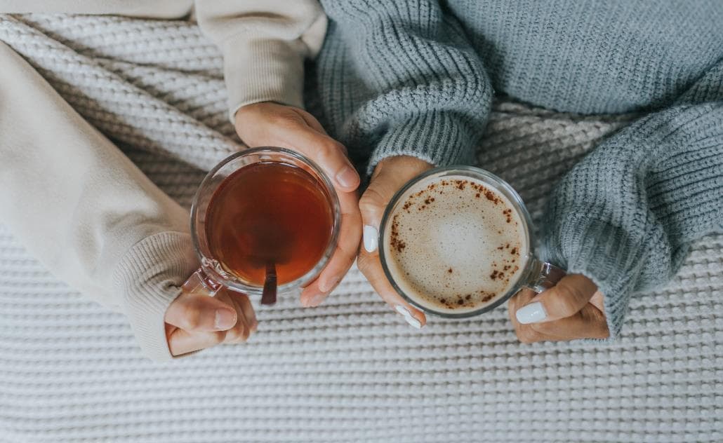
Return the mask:
[[223,45],[224,77],[231,123],[242,106],[278,102],[304,107],[304,54],[300,42],[229,38]]

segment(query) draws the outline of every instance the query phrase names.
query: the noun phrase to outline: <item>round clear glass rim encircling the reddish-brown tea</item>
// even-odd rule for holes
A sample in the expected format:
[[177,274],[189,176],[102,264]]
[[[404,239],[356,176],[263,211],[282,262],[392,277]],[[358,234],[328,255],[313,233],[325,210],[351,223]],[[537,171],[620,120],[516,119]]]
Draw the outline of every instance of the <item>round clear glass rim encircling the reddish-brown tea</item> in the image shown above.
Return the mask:
[[[234,152],[234,154],[229,155],[228,157],[221,160],[221,162],[218,162],[211,170],[203,177],[203,180],[201,181],[200,185],[198,186],[198,189],[196,190],[196,193],[194,194],[193,201],[191,203],[191,237],[193,242],[193,249],[196,257],[200,261],[200,265],[203,271],[209,274],[210,278],[212,278],[214,281],[217,281],[218,283],[222,284],[223,286],[226,286],[228,289],[233,289],[234,291],[239,291],[247,295],[260,295],[262,294],[263,286],[252,286],[249,284],[244,283],[243,281],[240,281],[239,279],[234,278],[233,280],[226,278],[226,276],[223,276],[221,273],[219,273],[214,266],[212,266],[210,263],[213,261],[218,262],[215,258],[209,258],[202,252],[202,247],[200,245],[200,240],[198,236],[198,229],[197,229],[197,215],[198,215],[198,206],[199,206],[199,199],[202,195],[202,193],[208,188],[209,183],[211,180],[215,178],[215,175],[220,171],[223,167],[228,165],[228,163],[234,161],[235,159],[239,157],[244,157],[248,155],[253,154],[282,154],[286,155],[288,157],[292,157],[296,159],[297,161],[301,162],[302,164],[309,167],[317,177],[314,177],[317,181],[320,182],[321,185],[323,185],[326,188],[326,191],[329,196],[330,200],[330,206],[333,211],[333,221],[332,221],[332,227],[331,227],[331,237],[329,239],[328,245],[326,246],[324,253],[322,254],[319,262],[307,273],[304,273],[303,276],[294,279],[293,281],[288,281],[285,284],[278,285],[277,292],[278,294],[284,294],[289,291],[294,291],[295,289],[299,289],[303,287],[305,284],[309,284],[311,281],[314,280],[319,274],[326,268],[326,266],[329,263],[329,260],[331,259],[333,255],[333,251],[335,250],[336,246],[338,245],[339,240],[339,234],[341,231],[341,206],[339,203],[338,194],[336,193],[336,189],[334,188],[333,184],[331,183],[330,178],[326,173],[321,169],[319,165],[317,165],[312,159],[309,159],[309,157],[306,157],[304,154],[300,154],[299,152],[293,151],[291,149],[282,148],[279,146],[257,146],[254,148],[248,148],[244,149],[239,152]],[[270,160],[271,162],[276,162],[275,160]],[[256,165],[258,162],[253,162],[249,165]],[[239,171],[243,169],[244,167],[247,167],[249,165],[241,166],[237,169],[235,169],[233,172]],[[231,175],[231,174],[229,174]],[[223,180],[221,180],[218,185],[215,185],[213,188],[213,192],[211,195],[213,196],[213,193],[215,193],[215,190],[218,189],[218,186],[221,185],[226,180],[227,177],[224,177]],[[205,214],[204,214],[205,217]],[[203,232],[203,235],[205,236],[205,231]],[[210,252],[210,251],[209,251]],[[220,263],[220,262],[218,262]]]

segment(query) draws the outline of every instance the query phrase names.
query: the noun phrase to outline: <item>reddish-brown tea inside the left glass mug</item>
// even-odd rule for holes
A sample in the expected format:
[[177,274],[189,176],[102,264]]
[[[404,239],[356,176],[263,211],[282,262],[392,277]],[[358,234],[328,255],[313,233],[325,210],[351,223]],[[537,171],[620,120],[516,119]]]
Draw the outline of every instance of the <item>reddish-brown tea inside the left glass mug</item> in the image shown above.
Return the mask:
[[210,197],[205,237],[227,273],[263,286],[268,266],[278,284],[306,275],[333,238],[330,195],[307,170],[258,162],[231,172]]

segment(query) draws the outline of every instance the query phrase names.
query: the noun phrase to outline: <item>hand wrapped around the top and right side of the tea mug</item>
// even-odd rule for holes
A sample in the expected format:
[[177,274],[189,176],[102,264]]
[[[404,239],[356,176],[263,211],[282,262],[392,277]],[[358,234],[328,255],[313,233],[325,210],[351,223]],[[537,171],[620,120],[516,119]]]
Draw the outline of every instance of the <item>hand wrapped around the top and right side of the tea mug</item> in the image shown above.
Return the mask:
[[321,304],[351,268],[361,238],[356,188],[359,174],[346,157],[346,148],[324,131],[313,115],[273,102],[247,105],[236,112],[236,132],[248,146],[279,146],[312,159],[331,178],[341,206],[339,242],[329,263],[301,292],[301,304]]

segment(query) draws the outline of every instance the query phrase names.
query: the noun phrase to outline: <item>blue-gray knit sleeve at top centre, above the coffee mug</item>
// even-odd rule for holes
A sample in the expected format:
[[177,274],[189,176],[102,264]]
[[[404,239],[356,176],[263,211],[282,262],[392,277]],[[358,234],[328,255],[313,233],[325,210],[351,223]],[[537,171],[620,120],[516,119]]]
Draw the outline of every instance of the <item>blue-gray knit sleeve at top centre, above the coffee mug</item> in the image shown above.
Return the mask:
[[[330,116],[332,131],[351,154],[369,152],[368,172],[381,159],[410,155],[435,165],[470,162],[487,123],[492,87],[458,22],[438,1],[322,1],[330,19],[328,44],[341,44],[351,66],[346,99],[361,102]],[[328,66],[326,66],[328,65]],[[353,82],[353,83],[351,83]],[[333,87],[333,82],[330,82]],[[323,87],[323,86],[322,86]],[[345,95],[324,94],[329,100]],[[354,97],[348,97],[352,95]]]

